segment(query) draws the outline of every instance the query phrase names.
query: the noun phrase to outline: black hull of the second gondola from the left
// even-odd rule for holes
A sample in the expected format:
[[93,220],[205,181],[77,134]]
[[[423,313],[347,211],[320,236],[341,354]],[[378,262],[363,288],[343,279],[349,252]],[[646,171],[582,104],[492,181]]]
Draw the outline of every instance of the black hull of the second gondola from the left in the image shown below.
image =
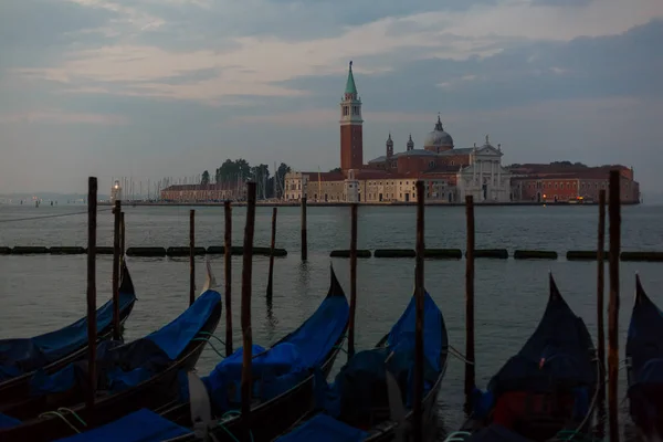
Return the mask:
[[[219,303],[200,332],[213,334],[220,317],[221,304]],[[186,372],[193,369],[206,344],[204,340],[190,341],[181,356],[166,370],[135,387],[107,397],[97,394],[92,410],[86,409],[82,403],[69,407],[86,422],[86,427],[81,425],[71,413],[64,412],[63,414],[69,418],[70,423],[78,428],[78,431],[85,431],[115,421],[141,408],[154,410],[164,403],[171,402],[179,394],[178,377],[180,371]],[[38,406],[41,411],[48,404],[40,402]],[[66,407],[66,404],[56,403],[50,409],[54,411],[59,407]],[[39,411],[36,412],[39,413]],[[75,431],[60,418],[43,417],[9,429],[0,429],[0,441],[48,442],[73,434]]]

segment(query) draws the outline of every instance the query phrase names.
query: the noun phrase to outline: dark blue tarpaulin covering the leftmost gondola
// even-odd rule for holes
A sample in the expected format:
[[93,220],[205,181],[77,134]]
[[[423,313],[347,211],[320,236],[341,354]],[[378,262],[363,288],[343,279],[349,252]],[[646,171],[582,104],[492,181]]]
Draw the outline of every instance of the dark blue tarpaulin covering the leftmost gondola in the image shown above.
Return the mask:
[[[120,315],[136,301],[133,293],[119,293]],[[96,312],[97,332],[107,328],[113,320],[113,301]],[[87,345],[87,318],[55,332],[22,339],[0,340],[0,381],[36,370],[54,362]]]

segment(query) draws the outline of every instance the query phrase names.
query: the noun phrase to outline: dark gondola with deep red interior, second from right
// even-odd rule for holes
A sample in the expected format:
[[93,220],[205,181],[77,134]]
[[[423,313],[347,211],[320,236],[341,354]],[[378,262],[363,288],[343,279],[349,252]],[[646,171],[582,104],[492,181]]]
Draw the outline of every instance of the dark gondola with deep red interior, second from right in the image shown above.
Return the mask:
[[583,320],[561,297],[552,275],[538,327],[517,355],[475,390],[473,411],[446,441],[547,441],[588,435],[600,376]]

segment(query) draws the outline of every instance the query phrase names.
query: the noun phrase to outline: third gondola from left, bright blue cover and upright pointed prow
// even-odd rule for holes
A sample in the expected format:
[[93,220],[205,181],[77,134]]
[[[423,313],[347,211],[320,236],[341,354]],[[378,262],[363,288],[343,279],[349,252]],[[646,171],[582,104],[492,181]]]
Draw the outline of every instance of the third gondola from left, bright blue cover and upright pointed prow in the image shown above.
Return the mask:
[[188,373],[181,400],[155,411],[139,410],[66,441],[238,441],[249,432],[255,442],[270,441],[313,409],[314,387],[332,369],[348,318],[349,305],[332,269],[327,296],[302,326],[266,350],[253,346],[254,424],[234,411],[240,408],[243,351],[239,349],[202,379]]

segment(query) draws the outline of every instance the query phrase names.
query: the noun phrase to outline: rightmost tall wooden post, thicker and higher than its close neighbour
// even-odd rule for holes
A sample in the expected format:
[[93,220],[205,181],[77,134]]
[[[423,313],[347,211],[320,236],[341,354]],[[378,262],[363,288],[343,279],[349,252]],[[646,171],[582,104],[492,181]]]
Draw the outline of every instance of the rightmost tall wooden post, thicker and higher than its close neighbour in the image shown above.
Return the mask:
[[610,304],[608,307],[608,415],[610,442],[619,442],[618,376],[619,376],[619,253],[621,243],[619,170],[610,171]]

